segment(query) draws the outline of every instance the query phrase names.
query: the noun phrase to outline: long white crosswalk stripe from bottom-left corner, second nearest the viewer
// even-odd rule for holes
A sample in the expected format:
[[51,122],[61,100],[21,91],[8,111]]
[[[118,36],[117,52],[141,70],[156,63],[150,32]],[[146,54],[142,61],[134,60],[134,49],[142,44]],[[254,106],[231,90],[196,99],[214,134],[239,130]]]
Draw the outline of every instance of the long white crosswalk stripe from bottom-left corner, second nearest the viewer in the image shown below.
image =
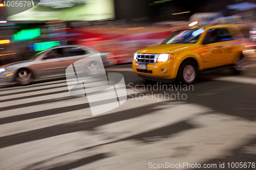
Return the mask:
[[[3,155],[9,153],[9,156],[12,157],[12,159],[10,159],[10,157],[4,157],[2,161],[5,162],[5,164],[2,167],[4,169],[24,168],[28,166],[28,162],[25,159],[28,160],[30,157],[33,158],[29,159],[31,160],[30,163],[36,163],[38,161],[68,154],[83,148],[92,147],[105,142],[111,142],[123,137],[129,137],[130,135],[143,133],[148,130],[154,130],[155,128],[161,128],[169,124],[179,122],[180,120],[184,119],[184,116],[192,116],[194,114],[202,113],[202,110],[199,109],[201,107],[194,107],[191,109],[189,106],[184,107],[180,105],[175,109],[175,106],[171,106],[174,107],[174,112],[172,114],[169,114],[166,112],[166,110],[163,110],[162,112],[156,110],[151,114],[146,114],[136,118],[123,120],[119,123],[111,123],[109,125],[98,127],[97,130],[106,128],[103,134],[92,134],[90,131],[73,132],[2,148],[0,149],[0,153]],[[177,112],[182,114],[176,115]],[[154,118],[151,118],[151,116]],[[141,121],[144,120],[146,120],[146,123],[144,126],[141,126]],[[165,121],[162,122],[162,120]],[[86,125],[88,123],[84,122],[83,124]],[[123,130],[125,129],[129,130],[129,133],[123,133]],[[113,136],[111,131],[116,132],[118,135]],[[114,138],[109,138],[108,136],[113,136]],[[63,148],[67,149],[63,150]],[[11,151],[13,150],[15,150],[15,154],[11,154]],[[31,151],[29,157],[26,155],[26,151],[28,150]],[[40,154],[42,152],[44,152],[43,155]],[[38,155],[40,156],[38,157]]]

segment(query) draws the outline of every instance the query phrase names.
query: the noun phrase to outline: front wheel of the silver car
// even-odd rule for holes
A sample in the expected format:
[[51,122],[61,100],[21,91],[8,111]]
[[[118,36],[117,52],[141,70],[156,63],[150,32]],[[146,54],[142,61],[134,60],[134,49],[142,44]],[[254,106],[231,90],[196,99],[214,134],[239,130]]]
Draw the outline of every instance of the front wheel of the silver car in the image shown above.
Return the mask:
[[32,72],[29,69],[22,68],[19,69],[16,74],[16,82],[20,85],[27,85],[32,82]]

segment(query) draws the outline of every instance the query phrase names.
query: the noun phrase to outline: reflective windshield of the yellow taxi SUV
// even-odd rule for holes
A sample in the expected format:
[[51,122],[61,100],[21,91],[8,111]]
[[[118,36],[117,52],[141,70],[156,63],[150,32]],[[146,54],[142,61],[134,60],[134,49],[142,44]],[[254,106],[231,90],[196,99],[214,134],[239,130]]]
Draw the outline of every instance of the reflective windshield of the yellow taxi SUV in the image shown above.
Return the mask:
[[162,44],[173,43],[196,43],[200,35],[204,32],[204,29],[187,29],[178,30],[166,38]]

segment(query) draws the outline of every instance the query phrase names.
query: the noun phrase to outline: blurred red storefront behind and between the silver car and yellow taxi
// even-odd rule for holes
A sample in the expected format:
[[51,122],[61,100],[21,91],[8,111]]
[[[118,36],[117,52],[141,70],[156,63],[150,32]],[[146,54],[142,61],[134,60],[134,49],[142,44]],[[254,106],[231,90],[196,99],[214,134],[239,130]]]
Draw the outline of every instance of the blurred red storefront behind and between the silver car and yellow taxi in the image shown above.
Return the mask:
[[79,33],[75,44],[91,46],[98,51],[109,51],[117,63],[132,62],[134,53],[147,46],[160,44],[172,30],[169,28],[94,28],[75,29]]

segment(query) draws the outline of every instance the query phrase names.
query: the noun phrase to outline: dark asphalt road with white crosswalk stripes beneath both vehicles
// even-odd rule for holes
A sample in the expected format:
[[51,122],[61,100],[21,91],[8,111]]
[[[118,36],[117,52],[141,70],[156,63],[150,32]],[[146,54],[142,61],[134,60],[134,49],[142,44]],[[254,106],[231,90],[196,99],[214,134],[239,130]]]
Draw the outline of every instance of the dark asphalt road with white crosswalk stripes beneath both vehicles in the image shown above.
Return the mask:
[[65,79],[2,86],[0,169],[256,169],[248,56],[242,75],[220,71],[189,87],[144,81],[131,64],[108,68],[123,75],[127,100],[96,116]]

